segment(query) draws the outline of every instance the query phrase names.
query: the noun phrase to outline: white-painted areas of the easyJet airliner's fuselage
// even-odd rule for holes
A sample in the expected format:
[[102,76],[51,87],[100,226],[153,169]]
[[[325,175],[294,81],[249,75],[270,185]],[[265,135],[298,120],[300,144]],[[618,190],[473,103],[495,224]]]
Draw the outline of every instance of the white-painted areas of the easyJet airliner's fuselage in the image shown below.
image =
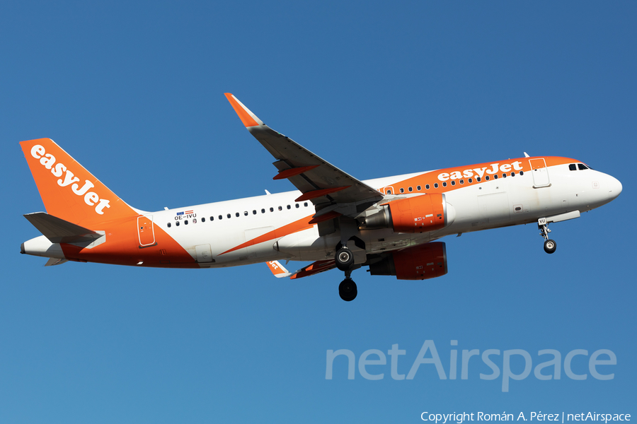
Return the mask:
[[[360,238],[365,242],[366,253],[401,249],[462,232],[534,223],[541,217],[572,211],[590,211],[607,204],[621,192],[619,181],[602,172],[590,169],[573,172],[567,165],[547,169],[550,184],[546,187],[535,188],[534,175],[526,172],[480,184],[465,184],[444,192],[456,216],[453,223],[441,230],[423,233],[396,233],[390,228],[362,230]],[[427,173],[371,179],[365,183],[382,189]],[[399,188],[396,186],[395,190],[398,192]],[[421,189],[395,197],[401,199],[426,192]],[[151,216],[154,225],[161,226],[193,257],[197,255],[195,247],[210,245],[214,261],[199,261],[202,267],[236,266],[276,259],[319,261],[333,258],[340,232],[337,229],[321,237],[317,225],[281,237],[266,237],[268,240],[264,242],[257,239],[253,245],[228,252],[256,237],[314,215],[311,202],[294,201],[299,195],[298,191],[285,192],[145,215]],[[183,211],[192,213],[177,215]]]

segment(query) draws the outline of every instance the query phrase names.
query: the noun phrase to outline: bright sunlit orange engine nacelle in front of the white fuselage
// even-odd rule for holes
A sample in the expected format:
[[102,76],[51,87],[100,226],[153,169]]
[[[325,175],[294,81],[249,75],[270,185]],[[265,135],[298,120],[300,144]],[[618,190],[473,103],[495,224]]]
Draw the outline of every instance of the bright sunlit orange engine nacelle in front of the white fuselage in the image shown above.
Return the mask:
[[444,194],[423,194],[390,201],[379,213],[365,218],[365,228],[394,228],[394,232],[435,231],[450,225],[456,210]]

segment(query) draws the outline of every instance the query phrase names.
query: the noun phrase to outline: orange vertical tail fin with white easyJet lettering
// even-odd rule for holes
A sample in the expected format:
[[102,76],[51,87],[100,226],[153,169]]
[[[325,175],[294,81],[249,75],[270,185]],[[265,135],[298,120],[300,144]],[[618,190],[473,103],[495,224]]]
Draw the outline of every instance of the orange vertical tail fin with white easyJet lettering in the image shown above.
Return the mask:
[[20,145],[50,215],[85,228],[137,215],[51,139]]

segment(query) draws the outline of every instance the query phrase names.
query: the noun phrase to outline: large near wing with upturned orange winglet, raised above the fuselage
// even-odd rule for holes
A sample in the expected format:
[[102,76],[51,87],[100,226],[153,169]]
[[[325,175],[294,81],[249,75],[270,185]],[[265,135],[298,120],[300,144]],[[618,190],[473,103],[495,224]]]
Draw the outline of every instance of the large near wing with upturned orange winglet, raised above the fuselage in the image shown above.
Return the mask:
[[327,213],[329,218],[341,214],[353,216],[383,199],[378,190],[270,129],[234,95],[226,93],[226,98],[243,125],[276,159],[274,165],[279,172],[273,179],[289,179],[302,192],[296,201],[312,201],[316,211],[322,210],[315,218]]

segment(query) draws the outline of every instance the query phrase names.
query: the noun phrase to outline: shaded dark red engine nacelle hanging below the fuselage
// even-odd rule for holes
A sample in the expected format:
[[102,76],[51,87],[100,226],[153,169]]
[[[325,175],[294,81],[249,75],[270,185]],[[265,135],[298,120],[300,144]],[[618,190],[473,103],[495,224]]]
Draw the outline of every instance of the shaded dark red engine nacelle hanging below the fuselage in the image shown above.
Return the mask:
[[372,276],[396,276],[398,280],[426,280],[447,273],[447,247],[444,242],[408,247],[369,265]]

